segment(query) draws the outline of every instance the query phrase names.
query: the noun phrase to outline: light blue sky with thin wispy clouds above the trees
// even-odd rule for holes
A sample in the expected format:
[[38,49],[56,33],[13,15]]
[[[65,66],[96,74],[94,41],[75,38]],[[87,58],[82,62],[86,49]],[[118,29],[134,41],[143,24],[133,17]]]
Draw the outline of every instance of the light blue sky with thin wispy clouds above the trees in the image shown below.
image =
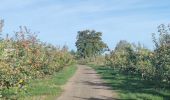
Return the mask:
[[38,38],[76,50],[77,31],[96,30],[113,49],[120,40],[152,49],[152,33],[170,23],[170,0],[0,0],[3,34],[27,26]]

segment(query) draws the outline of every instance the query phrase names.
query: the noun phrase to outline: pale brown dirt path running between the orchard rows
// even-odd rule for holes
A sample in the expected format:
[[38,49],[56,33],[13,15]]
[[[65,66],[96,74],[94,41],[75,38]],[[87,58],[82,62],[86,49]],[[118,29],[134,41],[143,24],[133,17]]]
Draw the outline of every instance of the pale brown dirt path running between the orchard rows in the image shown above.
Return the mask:
[[57,100],[114,100],[113,96],[115,93],[92,68],[78,65],[77,72]]

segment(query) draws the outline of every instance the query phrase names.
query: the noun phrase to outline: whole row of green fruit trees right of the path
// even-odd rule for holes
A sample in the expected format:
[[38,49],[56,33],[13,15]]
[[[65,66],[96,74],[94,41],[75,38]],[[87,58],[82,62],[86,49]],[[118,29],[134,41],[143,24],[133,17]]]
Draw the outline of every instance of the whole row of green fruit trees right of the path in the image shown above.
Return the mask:
[[145,80],[157,80],[170,83],[170,28],[160,25],[158,39],[153,34],[154,51],[140,44],[120,41],[110,55],[106,55],[106,64],[126,74],[139,74]]

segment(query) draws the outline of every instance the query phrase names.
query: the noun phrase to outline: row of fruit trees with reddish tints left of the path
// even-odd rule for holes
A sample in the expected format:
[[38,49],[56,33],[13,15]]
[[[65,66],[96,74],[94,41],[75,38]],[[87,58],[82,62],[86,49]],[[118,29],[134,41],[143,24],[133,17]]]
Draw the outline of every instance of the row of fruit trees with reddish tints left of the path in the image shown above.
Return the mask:
[[[67,51],[42,43],[26,27],[20,27],[15,37],[0,41],[0,87],[24,90],[30,79],[43,78],[74,62]],[[24,90],[25,91],[25,90]],[[2,92],[2,97],[3,92]]]

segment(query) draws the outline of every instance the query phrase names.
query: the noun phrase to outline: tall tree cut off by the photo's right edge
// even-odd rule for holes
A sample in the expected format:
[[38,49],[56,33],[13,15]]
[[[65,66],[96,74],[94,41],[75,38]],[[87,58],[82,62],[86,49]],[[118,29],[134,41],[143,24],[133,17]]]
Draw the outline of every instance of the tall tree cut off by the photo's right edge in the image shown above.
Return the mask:
[[158,27],[158,32],[158,38],[153,34],[156,78],[157,80],[170,82],[170,26],[162,24]]

